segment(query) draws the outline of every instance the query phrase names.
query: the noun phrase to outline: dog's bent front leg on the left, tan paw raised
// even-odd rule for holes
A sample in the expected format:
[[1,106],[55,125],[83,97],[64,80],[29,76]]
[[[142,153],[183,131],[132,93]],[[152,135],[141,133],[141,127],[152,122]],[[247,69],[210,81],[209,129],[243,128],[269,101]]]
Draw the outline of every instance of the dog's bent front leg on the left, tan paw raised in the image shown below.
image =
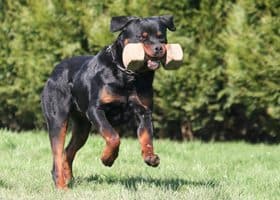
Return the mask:
[[99,132],[106,141],[106,146],[101,156],[101,161],[105,166],[112,166],[115,159],[118,157],[120,137],[108,122],[105,112],[100,108],[92,107],[88,116],[91,121],[95,121],[98,125]]

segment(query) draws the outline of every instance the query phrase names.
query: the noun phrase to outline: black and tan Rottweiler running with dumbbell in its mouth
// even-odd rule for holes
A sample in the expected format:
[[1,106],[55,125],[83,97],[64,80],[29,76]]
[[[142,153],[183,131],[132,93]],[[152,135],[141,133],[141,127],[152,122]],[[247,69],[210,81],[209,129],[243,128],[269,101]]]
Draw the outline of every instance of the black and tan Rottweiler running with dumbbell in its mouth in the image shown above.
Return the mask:
[[[53,180],[57,188],[67,188],[72,163],[85,144],[92,124],[106,141],[101,160],[111,166],[118,156],[120,137],[113,126],[137,116],[138,138],[144,161],[159,165],[152,137],[153,78],[166,54],[166,30],[175,31],[172,16],[149,18],[113,17],[111,31],[120,31],[117,40],[96,56],[79,56],[58,64],[42,92],[53,154]],[[135,72],[125,69],[123,48],[142,43],[146,62]],[[72,138],[64,149],[69,119]]]

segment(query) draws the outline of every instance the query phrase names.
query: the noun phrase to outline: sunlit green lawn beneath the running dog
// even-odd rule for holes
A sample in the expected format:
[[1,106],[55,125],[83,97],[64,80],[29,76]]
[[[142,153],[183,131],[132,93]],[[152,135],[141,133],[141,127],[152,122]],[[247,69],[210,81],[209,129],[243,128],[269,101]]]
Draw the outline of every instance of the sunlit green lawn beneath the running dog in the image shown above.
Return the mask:
[[133,139],[122,139],[114,166],[104,167],[103,145],[91,136],[74,162],[72,188],[57,191],[47,134],[0,130],[0,199],[280,198],[279,145],[156,140],[158,168],[144,164]]

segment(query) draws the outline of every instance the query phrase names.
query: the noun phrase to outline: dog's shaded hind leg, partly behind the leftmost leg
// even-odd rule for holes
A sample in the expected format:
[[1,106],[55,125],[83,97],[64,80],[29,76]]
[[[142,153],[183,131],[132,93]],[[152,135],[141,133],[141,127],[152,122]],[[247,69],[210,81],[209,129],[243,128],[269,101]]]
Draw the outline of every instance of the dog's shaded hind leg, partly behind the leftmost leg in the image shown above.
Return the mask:
[[73,177],[72,164],[77,151],[86,143],[91,128],[90,122],[81,116],[72,117],[72,137],[64,156],[64,177],[68,184]]

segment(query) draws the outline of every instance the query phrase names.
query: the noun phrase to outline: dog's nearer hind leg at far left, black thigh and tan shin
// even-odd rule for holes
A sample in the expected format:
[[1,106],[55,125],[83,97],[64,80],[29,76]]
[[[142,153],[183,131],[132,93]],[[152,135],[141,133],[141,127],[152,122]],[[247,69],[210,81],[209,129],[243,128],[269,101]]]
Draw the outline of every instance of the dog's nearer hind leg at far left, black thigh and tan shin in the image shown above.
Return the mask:
[[67,188],[64,175],[64,143],[71,96],[68,88],[49,80],[42,93],[42,109],[47,121],[53,155],[52,176],[57,188]]

